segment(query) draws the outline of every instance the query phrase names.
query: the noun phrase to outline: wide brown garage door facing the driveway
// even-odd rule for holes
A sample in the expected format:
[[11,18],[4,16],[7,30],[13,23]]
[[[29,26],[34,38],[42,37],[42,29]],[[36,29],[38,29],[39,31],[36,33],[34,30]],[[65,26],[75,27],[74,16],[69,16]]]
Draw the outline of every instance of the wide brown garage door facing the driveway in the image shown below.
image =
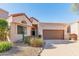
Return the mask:
[[64,39],[64,30],[43,30],[44,39]]

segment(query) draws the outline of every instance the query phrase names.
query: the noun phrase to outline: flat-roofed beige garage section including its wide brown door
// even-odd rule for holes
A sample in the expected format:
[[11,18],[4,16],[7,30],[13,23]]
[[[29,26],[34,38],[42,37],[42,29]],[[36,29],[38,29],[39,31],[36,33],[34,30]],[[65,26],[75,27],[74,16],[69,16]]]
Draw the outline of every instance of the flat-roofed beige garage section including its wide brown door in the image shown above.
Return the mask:
[[64,23],[41,23],[40,33],[44,40],[67,39],[67,24]]

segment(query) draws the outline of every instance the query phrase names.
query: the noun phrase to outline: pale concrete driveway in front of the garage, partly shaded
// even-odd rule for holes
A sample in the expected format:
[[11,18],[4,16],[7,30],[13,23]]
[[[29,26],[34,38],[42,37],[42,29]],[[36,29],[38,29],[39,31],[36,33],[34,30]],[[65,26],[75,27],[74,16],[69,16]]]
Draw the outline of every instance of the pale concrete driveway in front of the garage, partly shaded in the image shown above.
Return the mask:
[[79,41],[45,40],[41,56],[79,56]]

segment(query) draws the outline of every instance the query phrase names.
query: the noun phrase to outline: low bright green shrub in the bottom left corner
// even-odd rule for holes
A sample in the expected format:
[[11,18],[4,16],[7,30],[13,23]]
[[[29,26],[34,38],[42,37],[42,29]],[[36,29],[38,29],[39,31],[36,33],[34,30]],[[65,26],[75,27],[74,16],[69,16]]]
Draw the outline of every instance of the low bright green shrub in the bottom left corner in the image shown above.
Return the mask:
[[10,42],[0,42],[0,52],[5,52],[9,50],[12,47],[12,44]]

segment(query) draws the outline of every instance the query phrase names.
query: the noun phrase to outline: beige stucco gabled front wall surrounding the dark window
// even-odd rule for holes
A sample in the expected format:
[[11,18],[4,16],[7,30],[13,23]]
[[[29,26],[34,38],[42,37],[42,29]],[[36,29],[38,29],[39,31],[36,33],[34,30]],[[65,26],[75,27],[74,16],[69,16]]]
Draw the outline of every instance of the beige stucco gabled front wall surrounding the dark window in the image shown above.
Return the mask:
[[17,34],[17,25],[16,23],[21,23],[22,20],[25,20],[27,22],[26,27],[26,34],[25,36],[30,36],[31,35],[31,22],[25,17],[25,16],[20,16],[20,17],[9,17],[7,20],[9,20],[10,24],[10,39],[13,42],[16,42],[18,40],[22,40],[22,34]]

